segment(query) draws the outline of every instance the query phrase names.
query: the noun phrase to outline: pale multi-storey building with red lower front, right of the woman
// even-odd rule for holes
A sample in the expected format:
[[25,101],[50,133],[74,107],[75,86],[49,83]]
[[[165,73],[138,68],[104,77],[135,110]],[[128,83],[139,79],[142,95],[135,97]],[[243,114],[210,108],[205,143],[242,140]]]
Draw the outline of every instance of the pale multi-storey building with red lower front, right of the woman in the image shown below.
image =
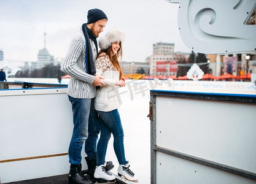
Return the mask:
[[150,75],[176,75],[176,62],[189,57],[189,53],[174,52],[174,44],[158,42],[153,44],[153,55],[147,58]]

